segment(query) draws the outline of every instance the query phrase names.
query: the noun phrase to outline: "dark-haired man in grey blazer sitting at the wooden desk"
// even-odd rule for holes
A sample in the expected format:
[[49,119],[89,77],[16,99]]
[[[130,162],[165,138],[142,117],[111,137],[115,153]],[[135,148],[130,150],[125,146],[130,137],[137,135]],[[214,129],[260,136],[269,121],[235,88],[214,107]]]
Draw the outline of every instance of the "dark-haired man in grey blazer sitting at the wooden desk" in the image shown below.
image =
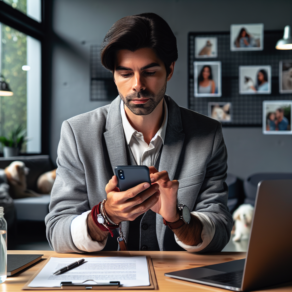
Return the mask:
[[[232,229],[222,128],[165,95],[178,58],[170,27],[154,13],[124,17],[100,55],[119,96],[62,124],[49,243],[117,250],[121,222],[129,250],[221,251]],[[120,192],[115,166],[135,164],[149,167],[152,185]]]

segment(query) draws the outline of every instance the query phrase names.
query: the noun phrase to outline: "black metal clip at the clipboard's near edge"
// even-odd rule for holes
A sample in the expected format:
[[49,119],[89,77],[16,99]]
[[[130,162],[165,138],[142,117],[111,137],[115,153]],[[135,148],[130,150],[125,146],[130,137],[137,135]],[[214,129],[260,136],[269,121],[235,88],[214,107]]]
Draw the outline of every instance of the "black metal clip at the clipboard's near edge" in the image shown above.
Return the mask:
[[94,280],[86,280],[82,283],[74,284],[72,282],[61,282],[63,290],[116,290],[120,287],[119,281],[110,281],[109,283],[84,284],[85,282]]

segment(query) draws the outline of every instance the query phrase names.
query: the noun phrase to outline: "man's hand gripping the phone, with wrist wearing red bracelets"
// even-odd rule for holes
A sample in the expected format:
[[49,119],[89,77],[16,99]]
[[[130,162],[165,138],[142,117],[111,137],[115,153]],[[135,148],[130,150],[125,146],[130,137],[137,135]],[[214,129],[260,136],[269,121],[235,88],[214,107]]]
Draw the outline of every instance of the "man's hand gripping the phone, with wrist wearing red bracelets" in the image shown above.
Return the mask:
[[[105,187],[107,201],[104,205],[107,216],[116,224],[121,221],[133,221],[152,208],[160,196],[157,183],[153,185],[141,183],[124,192],[120,192],[117,184],[118,179],[114,175]],[[95,225],[91,212],[87,216],[87,231],[93,240],[99,242],[103,241],[108,235],[107,231],[102,231]]]

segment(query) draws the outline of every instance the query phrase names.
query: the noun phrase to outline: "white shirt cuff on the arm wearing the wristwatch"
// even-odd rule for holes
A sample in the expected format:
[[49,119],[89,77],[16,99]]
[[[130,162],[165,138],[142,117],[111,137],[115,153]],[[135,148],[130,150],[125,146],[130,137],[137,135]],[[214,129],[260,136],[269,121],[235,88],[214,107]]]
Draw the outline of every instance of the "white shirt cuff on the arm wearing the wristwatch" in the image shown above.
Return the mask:
[[215,223],[211,218],[201,212],[191,212],[191,214],[199,218],[203,225],[201,233],[201,238],[203,241],[200,242],[198,245],[187,245],[180,241],[175,234],[174,238],[176,243],[187,251],[201,251],[202,249],[207,247],[212,241],[216,230]]

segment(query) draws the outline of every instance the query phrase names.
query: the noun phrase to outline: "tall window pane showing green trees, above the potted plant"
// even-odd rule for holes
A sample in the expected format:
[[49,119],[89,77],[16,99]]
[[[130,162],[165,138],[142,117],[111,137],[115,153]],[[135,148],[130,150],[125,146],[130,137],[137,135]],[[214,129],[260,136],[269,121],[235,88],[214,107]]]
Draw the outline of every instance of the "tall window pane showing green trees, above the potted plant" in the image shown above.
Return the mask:
[[21,152],[41,153],[41,42],[1,23],[0,39],[0,72],[13,92],[1,96],[1,136],[22,126]]

